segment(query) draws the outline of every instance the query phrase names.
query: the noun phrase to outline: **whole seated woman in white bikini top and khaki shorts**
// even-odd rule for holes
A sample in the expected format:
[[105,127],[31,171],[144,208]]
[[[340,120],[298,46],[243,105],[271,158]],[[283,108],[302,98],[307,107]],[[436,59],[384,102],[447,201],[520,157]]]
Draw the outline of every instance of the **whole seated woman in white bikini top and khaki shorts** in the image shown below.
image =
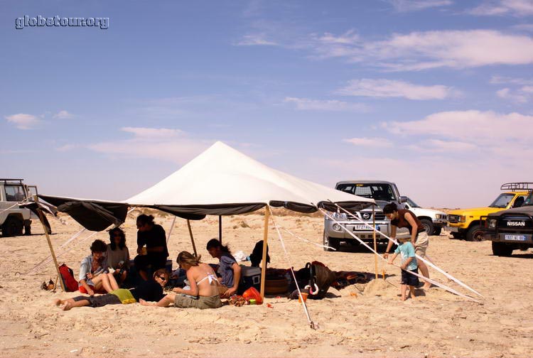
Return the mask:
[[187,251],[178,254],[178,264],[187,271],[187,278],[190,288],[174,288],[178,293],[169,293],[157,303],[140,300],[141,305],[167,307],[174,305],[178,308],[219,308],[222,306],[220,295],[218,294],[217,276],[208,264],[200,261],[200,256],[196,258]]

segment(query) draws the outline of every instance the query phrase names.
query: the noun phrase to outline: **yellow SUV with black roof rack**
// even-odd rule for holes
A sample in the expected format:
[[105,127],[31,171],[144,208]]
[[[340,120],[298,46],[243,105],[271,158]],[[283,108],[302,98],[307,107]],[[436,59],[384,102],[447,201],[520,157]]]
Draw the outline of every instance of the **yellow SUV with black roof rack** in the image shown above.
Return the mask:
[[448,229],[455,239],[463,238],[468,241],[483,240],[483,227],[480,217],[492,212],[520,207],[527,195],[533,189],[532,183],[505,183],[500,190],[504,190],[488,207],[474,207],[472,209],[458,209],[448,212]]

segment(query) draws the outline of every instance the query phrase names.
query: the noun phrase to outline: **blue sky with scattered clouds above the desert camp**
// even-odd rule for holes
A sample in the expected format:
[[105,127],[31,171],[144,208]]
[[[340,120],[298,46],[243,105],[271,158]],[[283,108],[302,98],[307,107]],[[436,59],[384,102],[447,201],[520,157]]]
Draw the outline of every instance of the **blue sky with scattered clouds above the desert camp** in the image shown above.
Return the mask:
[[41,193],[125,200],[215,141],[330,187],[390,180],[426,207],[533,182],[533,0],[0,8],[0,177]]

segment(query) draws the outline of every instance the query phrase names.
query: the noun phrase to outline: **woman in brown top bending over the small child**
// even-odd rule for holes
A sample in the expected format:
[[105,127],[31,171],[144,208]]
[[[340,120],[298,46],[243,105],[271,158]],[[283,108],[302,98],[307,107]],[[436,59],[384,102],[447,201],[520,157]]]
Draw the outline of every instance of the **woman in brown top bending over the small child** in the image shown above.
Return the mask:
[[[398,207],[396,204],[394,204],[394,202],[385,205],[383,208],[383,213],[387,216],[387,219],[390,220],[392,225],[390,235],[391,239],[396,239],[396,229],[398,227],[407,227],[411,233],[411,244],[414,246],[415,254],[422,258],[426,257],[426,249],[429,245],[428,234],[426,234],[426,230],[424,230],[424,227],[416,215],[409,210],[398,210]],[[385,250],[385,253],[383,254],[385,259],[389,257],[389,251],[391,247],[392,241],[389,241],[387,244],[387,250]],[[422,276],[429,278],[428,266],[426,266],[424,261],[421,260],[418,260],[418,264]],[[423,288],[428,289],[430,287],[431,283],[426,281]]]

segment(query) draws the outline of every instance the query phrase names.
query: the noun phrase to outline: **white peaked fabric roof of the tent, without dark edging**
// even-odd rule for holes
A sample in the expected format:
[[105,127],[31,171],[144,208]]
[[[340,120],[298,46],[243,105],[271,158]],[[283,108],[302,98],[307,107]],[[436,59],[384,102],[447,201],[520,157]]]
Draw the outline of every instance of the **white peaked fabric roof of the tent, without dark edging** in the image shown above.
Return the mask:
[[207,207],[293,202],[314,207],[328,200],[363,206],[374,203],[269,168],[218,141],[180,170],[124,202],[134,206]]

